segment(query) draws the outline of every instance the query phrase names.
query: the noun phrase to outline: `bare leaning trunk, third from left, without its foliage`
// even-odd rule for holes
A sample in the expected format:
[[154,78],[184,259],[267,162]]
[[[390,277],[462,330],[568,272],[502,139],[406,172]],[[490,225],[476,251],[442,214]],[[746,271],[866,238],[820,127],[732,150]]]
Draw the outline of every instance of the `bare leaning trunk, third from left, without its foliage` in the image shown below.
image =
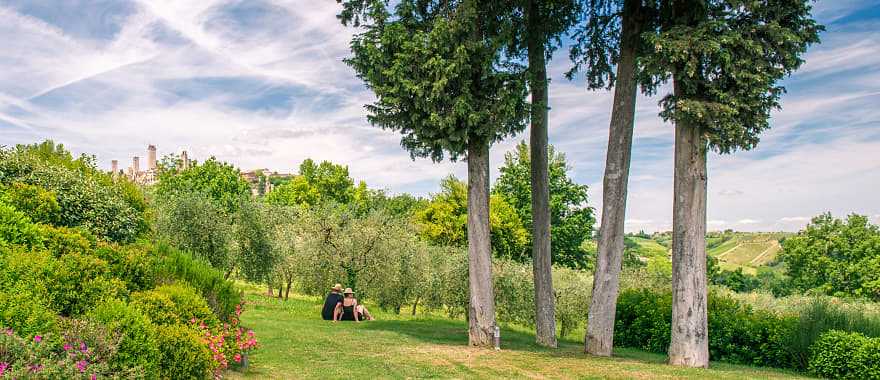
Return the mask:
[[626,194],[632,157],[633,121],[636,113],[636,48],[639,28],[639,0],[626,0],[623,11],[624,36],[620,42],[617,82],[614,84],[614,105],[605,157],[605,178],[602,183],[602,225],[599,228],[599,252],[593,276],[593,295],[584,339],[587,353],[611,356],[614,347],[614,316],[620,287],[620,266],[623,259]]

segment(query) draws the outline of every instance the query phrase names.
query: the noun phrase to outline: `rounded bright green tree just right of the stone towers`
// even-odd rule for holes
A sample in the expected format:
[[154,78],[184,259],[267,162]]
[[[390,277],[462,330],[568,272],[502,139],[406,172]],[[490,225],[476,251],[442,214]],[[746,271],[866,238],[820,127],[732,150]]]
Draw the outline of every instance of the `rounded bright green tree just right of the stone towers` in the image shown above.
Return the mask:
[[183,171],[171,168],[160,171],[155,191],[159,199],[190,192],[202,193],[216,201],[226,213],[237,211],[241,199],[251,195],[250,185],[241,178],[241,172],[214,157],[202,164],[193,162]]

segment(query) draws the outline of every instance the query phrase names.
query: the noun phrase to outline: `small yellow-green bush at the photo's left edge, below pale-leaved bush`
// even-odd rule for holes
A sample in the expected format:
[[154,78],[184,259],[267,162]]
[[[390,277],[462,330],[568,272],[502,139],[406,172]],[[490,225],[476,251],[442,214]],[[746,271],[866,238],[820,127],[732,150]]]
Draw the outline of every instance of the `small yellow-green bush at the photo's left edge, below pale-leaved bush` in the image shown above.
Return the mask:
[[36,223],[54,224],[61,220],[61,206],[55,193],[39,186],[13,182],[5,189],[0,188],[0,199]]

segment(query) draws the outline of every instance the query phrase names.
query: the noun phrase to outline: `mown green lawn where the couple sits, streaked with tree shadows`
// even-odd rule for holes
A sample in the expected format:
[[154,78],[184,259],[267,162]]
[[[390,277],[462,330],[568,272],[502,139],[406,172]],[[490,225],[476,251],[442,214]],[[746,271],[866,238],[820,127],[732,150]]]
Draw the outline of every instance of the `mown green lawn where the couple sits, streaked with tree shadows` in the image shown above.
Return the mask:
[[[664,365],[662,355],[620,349],[614,358],[589,357],[574,337],[556,350],[533,344],[533,333],[502,330],[502,350],[467,346],[467,324],[440,316],[409,317],[371,310],[373,322],[333,323],[320,319],[321,300],[263,296],[250,288],[243,324],[256,331],[261,347],[250,369],[232,379],[341,378],[799,378],[766,368],[713,363],[708,370]],[[369,302],[367,303],[369,307]]]

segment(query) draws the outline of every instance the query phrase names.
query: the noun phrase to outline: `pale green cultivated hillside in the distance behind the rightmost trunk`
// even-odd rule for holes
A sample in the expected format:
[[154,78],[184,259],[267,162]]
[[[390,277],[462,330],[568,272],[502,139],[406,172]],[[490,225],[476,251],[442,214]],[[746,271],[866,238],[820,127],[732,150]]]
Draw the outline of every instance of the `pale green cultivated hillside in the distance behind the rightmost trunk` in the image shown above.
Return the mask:
[[[710,232],[706,237],[706,252],[718,259],[721,269],[736,270],[754,274],[757,268],[770,264],[782,247],[779,241],[783,232]],[[627,240],[637,245],[636,254],[643,258],[670,254],[672,234],[669,232],[653,235],[639,234],[627,236]]]

